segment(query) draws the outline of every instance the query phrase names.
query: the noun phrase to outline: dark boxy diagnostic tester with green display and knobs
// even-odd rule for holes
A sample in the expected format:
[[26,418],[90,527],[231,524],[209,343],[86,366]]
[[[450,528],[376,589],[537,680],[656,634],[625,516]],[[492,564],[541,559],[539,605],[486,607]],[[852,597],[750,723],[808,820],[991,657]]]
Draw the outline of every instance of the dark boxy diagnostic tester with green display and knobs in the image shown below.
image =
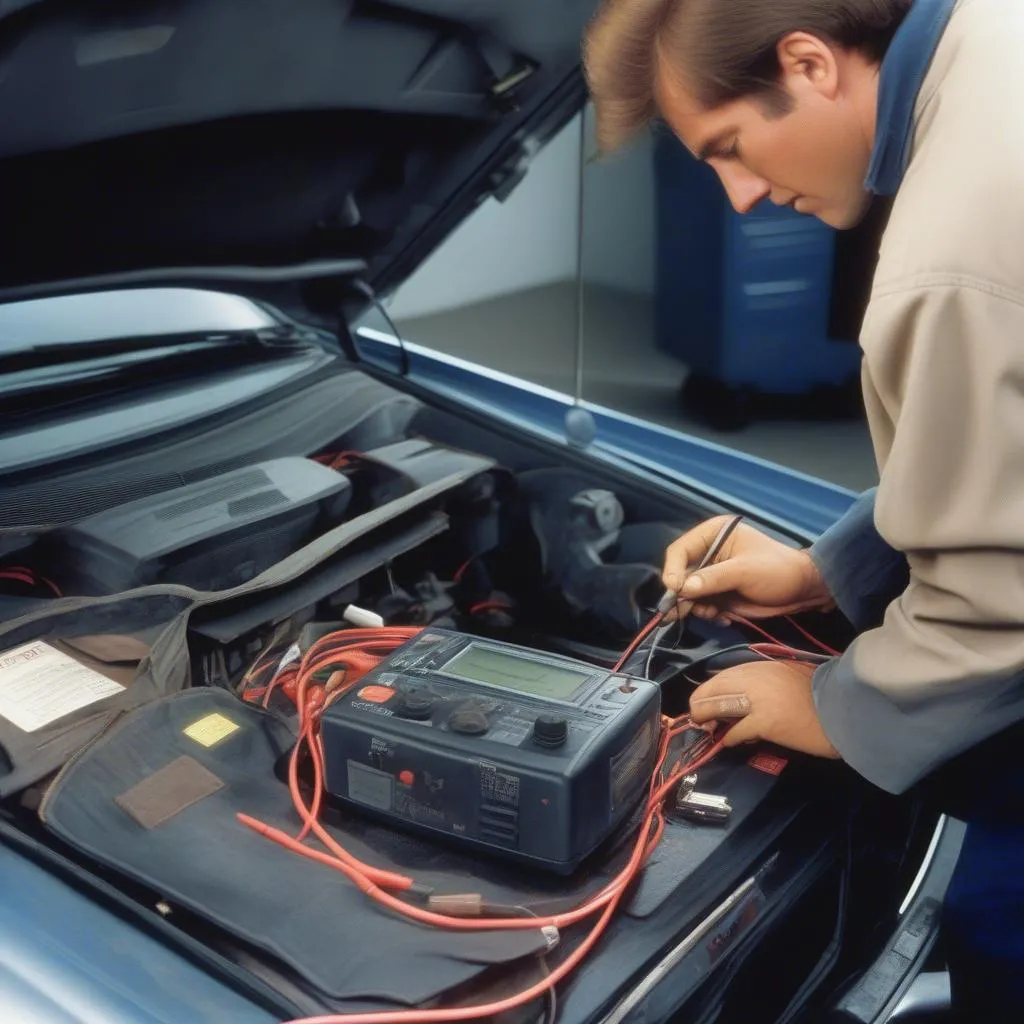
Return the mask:
[[325,710],[325,783],[388,822],[568,873],[647,792],[659,722],[648,680],[430,629]]

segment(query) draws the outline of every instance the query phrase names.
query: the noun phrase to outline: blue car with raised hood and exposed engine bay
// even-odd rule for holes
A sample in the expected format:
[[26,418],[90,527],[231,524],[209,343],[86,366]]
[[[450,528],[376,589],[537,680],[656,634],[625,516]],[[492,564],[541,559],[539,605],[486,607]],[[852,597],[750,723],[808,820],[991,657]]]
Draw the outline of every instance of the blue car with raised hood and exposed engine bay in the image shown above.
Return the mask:
[[593,6],[4,6],[5,1019],[948,1001],[963,825],[720,751],[688,693],[764,654],[656,612],[688,526],[854,496],[367,318],[579,111]]

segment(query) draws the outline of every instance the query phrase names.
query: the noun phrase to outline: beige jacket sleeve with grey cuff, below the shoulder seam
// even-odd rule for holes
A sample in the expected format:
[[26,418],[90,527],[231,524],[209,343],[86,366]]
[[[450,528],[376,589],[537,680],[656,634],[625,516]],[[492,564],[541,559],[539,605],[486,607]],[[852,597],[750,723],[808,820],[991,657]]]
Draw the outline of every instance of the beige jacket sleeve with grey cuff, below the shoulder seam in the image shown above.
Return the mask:
[[862,343],[874,521],[909,577],[814,693],[844,759],[899,793],[1024,718],[1024,302],[893,287]]

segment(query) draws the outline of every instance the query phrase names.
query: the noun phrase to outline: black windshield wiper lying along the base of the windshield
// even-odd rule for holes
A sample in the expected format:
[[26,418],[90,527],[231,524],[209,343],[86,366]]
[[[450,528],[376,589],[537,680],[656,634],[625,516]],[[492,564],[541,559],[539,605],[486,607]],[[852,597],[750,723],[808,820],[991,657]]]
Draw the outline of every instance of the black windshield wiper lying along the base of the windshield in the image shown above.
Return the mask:
[[92,370],[99,369],[102,364],[114,368],[120,360],[137,362],[147,354],[155,357],[170,353],[186,355],[189,352],[199,354],[223,348],[236,351],[250,348],[270,354],[305,348],[310,343],[315,344],[311,333],[287,326],[54,342],[15,351],[0,350],[0,376],[56,368],[63,368],[69,371],[70,376],[76,376],[76,371],[84,370],[86,365],[91,365]]

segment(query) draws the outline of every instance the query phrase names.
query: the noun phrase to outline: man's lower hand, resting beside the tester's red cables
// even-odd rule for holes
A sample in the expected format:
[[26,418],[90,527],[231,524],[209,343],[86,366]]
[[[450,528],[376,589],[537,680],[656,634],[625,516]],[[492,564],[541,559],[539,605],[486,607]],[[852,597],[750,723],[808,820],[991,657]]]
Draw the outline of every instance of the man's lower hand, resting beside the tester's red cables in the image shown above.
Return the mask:
[[690,697],[697,724],[735,719],[725,745],[764,739],[818,758],[838,758],[814,709],[814,666],[764,662],[726,669]]

